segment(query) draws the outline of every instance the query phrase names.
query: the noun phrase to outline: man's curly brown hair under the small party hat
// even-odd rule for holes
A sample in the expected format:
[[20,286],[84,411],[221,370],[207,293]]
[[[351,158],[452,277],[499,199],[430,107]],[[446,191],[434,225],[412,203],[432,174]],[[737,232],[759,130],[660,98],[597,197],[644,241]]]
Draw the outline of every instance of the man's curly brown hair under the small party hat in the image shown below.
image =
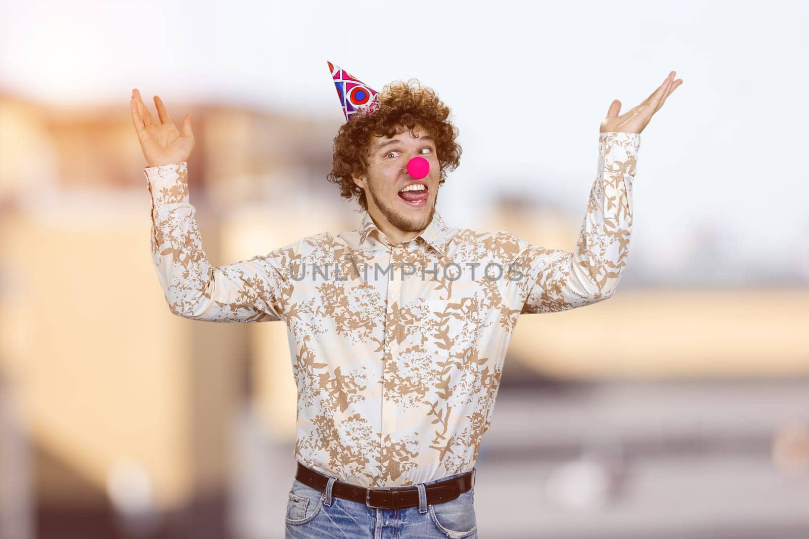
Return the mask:
[[368,150],[371,137],[393,137],[395,133],[410,134],[416,125],[421,125],[435,141],[435,152],[441,166],[443,185],[447,179],[447,171],[454,171],[460,165],[461,147],[455,142],[458,128],[451,120],[450,109],[438,99],[438,95],[429,87],[421,87],[418,79],[408,82],[394,81],[379,92],[379,109],[371,114],[355,114],[342,124],[334,137],[334,156],[332,171],[328,173],[328,181],[340,186],[341,196],[345,199],[358,197],[358,203],[368,211],[365,190],[354,183],[354,177],[367,172]]

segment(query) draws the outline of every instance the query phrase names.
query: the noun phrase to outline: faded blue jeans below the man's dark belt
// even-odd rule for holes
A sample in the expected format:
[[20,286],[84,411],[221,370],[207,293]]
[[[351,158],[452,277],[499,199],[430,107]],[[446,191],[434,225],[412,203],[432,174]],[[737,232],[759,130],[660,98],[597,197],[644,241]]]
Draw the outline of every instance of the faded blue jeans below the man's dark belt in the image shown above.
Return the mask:
[[[462,474],[450,475],[447,478],[458,475]],[[448,502],[427,505],[424,487],[443,479],[418,483],[413,486],[417,486],[419,490],[421,501],[419,507],[379,509],[368,507],[366,503],[332,496],[332,485],[336,481],[337,478],[329,478],[326,491],[320,492],[294,479],[289,502],[286,504],[287,539],[309,537],[477,539],[474,487]],[[396,490],[413,486],[397,487]]]

